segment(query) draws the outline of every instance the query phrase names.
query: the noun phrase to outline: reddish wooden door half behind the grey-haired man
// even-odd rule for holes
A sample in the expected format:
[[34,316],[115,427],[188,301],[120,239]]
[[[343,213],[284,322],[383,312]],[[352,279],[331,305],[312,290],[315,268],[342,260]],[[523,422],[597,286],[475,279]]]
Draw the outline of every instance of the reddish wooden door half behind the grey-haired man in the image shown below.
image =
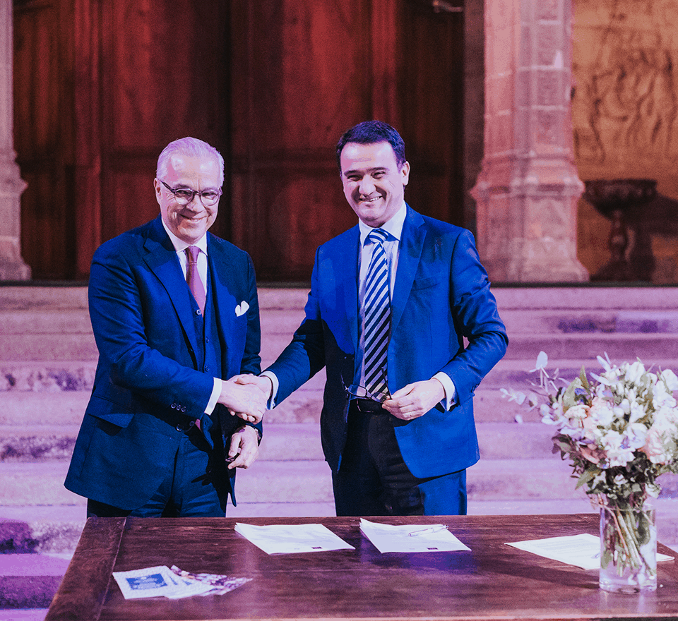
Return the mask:
[[[158,213],[157,156],[194,135],[227,157],[222,0],[15,0],[15,143],[34,279],[88,275],[102,241]],[[214,231],[227,234],[226,202]]]

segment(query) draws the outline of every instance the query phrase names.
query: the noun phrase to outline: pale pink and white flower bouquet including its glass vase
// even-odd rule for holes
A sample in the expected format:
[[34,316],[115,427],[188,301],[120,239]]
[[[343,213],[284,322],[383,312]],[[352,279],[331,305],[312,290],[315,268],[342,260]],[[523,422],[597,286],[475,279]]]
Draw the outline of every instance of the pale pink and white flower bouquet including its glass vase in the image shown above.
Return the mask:
[[554,452],[571,459],[577,487],[600,507],[600,586],[607,591],[653,591],[657,531],[652,499],[658,476],[678,472],[678,378],[651,373],[638,360],[615,366],[598,356],[600,375],[584,368],[567,382],[549,375],[542,351],[535,390],[501,389],[504,397],[539,407],[554,426]]

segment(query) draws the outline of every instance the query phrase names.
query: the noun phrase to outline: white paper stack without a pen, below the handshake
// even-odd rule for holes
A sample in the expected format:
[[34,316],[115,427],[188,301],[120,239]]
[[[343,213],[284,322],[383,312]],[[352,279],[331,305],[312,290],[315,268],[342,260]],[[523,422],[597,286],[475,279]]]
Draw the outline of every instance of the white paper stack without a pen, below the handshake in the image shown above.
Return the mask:
[[235,531],[267,554],[355,550],[322,524],[235,524]]

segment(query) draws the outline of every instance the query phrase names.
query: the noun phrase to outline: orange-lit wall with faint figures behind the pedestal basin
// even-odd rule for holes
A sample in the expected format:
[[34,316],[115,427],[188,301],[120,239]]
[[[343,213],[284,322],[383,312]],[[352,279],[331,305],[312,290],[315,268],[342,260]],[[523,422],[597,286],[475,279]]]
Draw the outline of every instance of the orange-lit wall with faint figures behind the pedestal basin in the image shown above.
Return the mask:
[[[658,181],[643,213],[652,281],[678,283],[678,0],[574,0],[572,113],[582,180]],[[578,258],[591,273],[609,260],[609,230],[580,200]]]

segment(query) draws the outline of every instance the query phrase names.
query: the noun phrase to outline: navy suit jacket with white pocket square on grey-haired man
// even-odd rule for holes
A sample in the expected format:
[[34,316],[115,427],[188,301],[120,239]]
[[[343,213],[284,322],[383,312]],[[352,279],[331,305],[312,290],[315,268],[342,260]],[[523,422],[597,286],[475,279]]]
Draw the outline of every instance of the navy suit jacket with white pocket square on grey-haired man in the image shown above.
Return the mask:
[[[208,261],[218,331],[210,345],[217,348],[221,377],[258,373],[261,332],[251,259],[208,233]],[[249,309],[237,316],[242,301]],[[133,509],[173,467],[178,440],[167,426],[200,418],[212,444],[210,430],[222,407],[204,414],[215,369],[198,369],[191,293],[160,216],[97,249],[89,309],[99,363],[65,484],[87,498]],[[232,421],[226,434],[242,423],[222,419]]]

